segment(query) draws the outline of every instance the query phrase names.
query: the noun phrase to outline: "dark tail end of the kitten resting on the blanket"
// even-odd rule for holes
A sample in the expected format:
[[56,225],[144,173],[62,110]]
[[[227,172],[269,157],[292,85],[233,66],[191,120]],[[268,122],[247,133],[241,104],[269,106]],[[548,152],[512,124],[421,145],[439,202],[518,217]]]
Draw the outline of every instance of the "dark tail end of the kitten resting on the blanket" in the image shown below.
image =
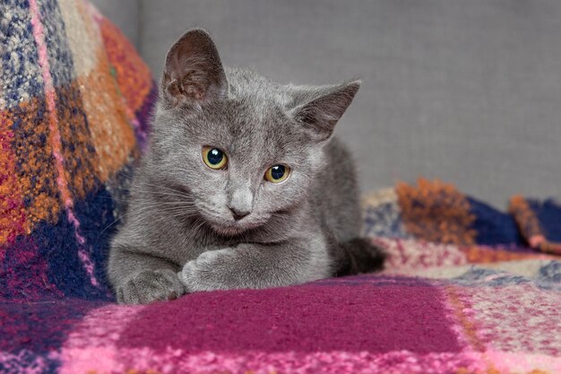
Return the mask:
[[368,239],[351,239],[334,246],[335,276],[372,273],[384,269],[384,249]]

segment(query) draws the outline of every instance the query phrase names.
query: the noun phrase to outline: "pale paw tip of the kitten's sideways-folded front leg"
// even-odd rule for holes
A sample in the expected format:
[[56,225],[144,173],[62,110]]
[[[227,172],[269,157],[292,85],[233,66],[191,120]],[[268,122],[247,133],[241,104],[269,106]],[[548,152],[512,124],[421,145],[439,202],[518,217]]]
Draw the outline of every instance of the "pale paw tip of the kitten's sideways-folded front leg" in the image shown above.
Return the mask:
[[187,292],[211,291],[231,288],[223,284],[228,274],[228,265],[232,249],[217,249],[203,252],[199,257],[186,263],[177,274]]

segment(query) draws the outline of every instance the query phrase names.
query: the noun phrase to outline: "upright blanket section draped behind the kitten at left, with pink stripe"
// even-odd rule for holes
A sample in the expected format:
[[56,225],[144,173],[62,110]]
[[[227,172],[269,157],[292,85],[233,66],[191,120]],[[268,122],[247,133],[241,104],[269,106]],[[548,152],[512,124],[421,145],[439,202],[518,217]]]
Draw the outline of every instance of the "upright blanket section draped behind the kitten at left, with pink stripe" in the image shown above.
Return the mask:
[[107,299],[151,73],[85,1],[0,2],[0,46],[0,297]]

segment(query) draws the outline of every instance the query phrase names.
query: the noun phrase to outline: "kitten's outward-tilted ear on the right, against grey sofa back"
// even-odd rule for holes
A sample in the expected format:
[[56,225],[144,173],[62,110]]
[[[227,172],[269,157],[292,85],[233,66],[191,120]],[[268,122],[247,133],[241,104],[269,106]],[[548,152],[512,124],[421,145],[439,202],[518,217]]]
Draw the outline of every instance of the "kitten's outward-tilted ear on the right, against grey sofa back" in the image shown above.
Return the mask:
[[309,130],[315,141],[321,142],[332,135],[333,129],[350,105],[360,87],[360,81],[322,86],[298,87],[294,94],[296,108],[292,116]]

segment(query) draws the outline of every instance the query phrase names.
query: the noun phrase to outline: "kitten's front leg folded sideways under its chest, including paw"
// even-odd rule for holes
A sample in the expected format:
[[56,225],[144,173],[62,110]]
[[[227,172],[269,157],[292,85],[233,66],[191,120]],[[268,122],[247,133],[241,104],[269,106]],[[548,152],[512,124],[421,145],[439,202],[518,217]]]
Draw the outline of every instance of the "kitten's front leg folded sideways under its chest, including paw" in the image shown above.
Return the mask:
[[330,274],[324,240],[299,239],[209,250],[187,262],[178,276],[186,290],[193,292],[285,286]]

